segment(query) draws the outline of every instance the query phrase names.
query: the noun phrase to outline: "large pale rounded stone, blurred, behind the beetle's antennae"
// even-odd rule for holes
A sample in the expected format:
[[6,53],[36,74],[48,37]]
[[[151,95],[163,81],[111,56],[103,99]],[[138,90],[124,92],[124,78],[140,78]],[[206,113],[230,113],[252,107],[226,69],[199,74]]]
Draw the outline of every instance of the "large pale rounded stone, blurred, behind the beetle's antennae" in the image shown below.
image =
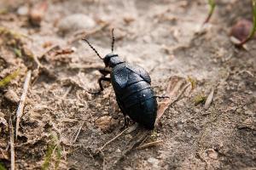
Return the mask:
[[85,14],[72,14],[60,20],[58,24],[61,34],[68,34],[79,30],[88,30],[96,26],[95,20],[92,20]]

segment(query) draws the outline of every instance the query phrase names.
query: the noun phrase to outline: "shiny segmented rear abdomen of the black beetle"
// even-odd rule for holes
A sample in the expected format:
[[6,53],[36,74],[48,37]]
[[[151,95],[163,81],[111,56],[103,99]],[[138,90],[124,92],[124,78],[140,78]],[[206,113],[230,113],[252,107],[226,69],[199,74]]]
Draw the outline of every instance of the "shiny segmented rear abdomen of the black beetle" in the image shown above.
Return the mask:
[[149,129],[154,128],[157,102],[150,84],[145,81],[135,82],[121,90],[119,105],[135,122]]

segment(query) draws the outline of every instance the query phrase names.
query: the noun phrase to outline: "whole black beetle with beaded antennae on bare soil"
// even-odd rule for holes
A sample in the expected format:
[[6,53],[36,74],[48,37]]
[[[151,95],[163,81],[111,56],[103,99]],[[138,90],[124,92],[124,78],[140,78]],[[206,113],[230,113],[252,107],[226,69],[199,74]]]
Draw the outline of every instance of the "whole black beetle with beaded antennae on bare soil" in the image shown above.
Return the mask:
[[[157,112],[157,101],[154,91],[150,86],[151,79],[148,72],[140,66],[125,63],[125,61],[119,58],[118,54],[113,54],[114,37],[112,53],[107,54],[104,58],[97,53],[96,49],[90,45],[87,39],[83,40],[88,43],[90,48],[96,52],[105,64],[105,68],[100,70],[102,77],[98,80],[101,89],[94,94],[102,92],[102,81],[111,82],[119,108],[124,116],[128,115],[134,122],[138,122],[148,129],[153,129]],[[110,74],[110,78],[107,77],[108,74]]]

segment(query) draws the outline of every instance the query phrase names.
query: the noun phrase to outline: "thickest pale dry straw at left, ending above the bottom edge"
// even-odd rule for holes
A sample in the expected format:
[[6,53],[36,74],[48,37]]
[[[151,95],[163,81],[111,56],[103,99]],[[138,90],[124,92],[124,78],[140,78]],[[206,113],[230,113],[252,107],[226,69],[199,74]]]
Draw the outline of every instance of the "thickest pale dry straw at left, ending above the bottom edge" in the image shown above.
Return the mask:
[[20,118],[23,115],[23,108],[24,108],[25,101],[26,101],[26,94],[27,94],[27,90],[29,88],[29,83],[30,83],[30,80],[31,80],[31,72],[32,71],[27,71],[27,73],[26,73],[26,79],[25,79],[24,86],[23,86],[23,92],[20,96],[20,104],[18,106],[18,110],[17,110],[17,113],[16,113],[16,116],[17,116],[16,130],[15,130],[16,131],[16,138],[18,136],[18,130],[19,130],[19,126],[20,126]]

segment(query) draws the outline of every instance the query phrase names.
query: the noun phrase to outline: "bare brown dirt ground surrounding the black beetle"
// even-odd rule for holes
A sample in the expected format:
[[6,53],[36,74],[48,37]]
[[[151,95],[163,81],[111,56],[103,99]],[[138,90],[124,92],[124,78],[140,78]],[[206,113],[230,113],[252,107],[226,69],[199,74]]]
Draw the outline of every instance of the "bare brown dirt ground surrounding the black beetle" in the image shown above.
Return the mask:
[[[235,48],[229,36],[236,20],[250,20],[249,0],[218,1],[204,27],[203,0],[24,2],[0,3],[0,77],[19,72],[0,88],[2,167],[10,168],[9,120],[16,127],[31,70],[15,133],[17,169],[256,168],[256,44]],[[84,15],[67,19],[73,14]],[[99,88],[97,69],[104,65],[80,39],[87,35],[104,56],[112,28],[115,53],[149,71],[156,94],[166,94],[170,84],[191,85],[153,132],[130,122],[101,150],[122,132],[124,118],[110,84],[101,95],[87,93]],[[211,92],[210,105],[201,104]],[[157,144],[137,149],[151,142]]]

